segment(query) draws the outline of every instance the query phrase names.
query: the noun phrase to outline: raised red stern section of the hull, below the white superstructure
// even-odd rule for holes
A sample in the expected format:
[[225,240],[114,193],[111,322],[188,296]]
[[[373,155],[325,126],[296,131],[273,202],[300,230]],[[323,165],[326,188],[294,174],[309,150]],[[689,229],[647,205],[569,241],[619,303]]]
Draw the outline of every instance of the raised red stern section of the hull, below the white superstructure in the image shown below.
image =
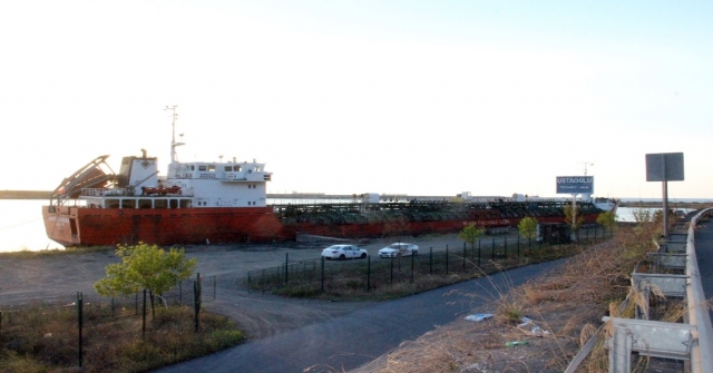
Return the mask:
[[[51,210],[53,209],[53,212]],[[43,206],[47,236],[65,246],[283,241],[272,207],[79,208]]]

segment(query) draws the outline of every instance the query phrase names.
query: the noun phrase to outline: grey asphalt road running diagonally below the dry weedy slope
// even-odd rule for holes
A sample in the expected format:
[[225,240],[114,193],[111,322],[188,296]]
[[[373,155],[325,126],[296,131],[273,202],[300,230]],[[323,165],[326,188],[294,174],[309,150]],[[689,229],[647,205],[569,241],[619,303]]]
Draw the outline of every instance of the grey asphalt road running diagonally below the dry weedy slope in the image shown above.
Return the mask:
[[[377,303],[328,321],[248,342],[156,372],[345,372],[465,317],[564,259]],[[495,312],[495,310],[492,310]]]

